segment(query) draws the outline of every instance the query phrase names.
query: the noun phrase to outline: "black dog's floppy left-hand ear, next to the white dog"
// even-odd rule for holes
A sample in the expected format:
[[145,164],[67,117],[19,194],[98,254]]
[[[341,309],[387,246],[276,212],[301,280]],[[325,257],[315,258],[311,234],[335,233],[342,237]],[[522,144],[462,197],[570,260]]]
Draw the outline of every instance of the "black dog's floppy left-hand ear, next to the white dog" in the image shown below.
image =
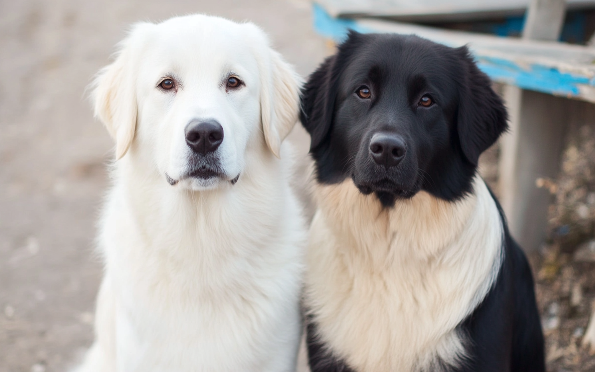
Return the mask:
[[310,151],[320,146],[330,132],[339,76],[353,50],[352,46],[361,37],[362,34],[350,31],[345,42],[337,47],[337,53],[324,60],[302,88],[300,121],[310,133]]

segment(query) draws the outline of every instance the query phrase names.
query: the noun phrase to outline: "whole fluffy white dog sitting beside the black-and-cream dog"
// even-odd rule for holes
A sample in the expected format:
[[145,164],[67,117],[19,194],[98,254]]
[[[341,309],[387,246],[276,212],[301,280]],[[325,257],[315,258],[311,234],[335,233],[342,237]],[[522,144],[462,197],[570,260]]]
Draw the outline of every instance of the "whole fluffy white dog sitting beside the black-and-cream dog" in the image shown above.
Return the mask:
[[295,370],[305,224],[281,142],[299,87],[253,24],[133,27],[94,86],[118,161],[79,371]]

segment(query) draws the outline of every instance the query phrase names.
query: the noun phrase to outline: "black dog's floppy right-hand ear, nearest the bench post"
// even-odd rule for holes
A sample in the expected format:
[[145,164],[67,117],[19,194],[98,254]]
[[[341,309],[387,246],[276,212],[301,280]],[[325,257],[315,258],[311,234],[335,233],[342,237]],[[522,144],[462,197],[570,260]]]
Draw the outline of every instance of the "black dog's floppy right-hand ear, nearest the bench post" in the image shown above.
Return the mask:
[[463,154],[477,165],[500,135],[508,130],[508,115],[502,98],[491,89],[490,78],[480,71],[466,46],[456,49],[462,60],[459,80],[457,131]]

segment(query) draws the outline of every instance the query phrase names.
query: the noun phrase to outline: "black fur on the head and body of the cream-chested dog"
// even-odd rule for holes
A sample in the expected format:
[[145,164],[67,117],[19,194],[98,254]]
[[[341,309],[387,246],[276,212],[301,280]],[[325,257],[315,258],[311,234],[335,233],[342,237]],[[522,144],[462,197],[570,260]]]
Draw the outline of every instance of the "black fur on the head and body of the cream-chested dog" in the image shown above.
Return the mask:
[[[358,95],[362,86],[369,98]],[[422,105],[424,96],[434,104]],[[472,191],[480,154],[508,129],[502,100],[467,48],[355,32],[309,77],[300,119],[311,135],[317,181],[333,184],[350,177],[386,208],[420,190],[446,201],[464,197]],[[372,160],[376,133],[404,140],[398,165]],[[493,289],[459,325],[471,340],[471,358],[457,371],[542,372],[533,277],[500,214],[505,259]],[[334,357],[312,321],[307,340],[312,372],[363,372]]]

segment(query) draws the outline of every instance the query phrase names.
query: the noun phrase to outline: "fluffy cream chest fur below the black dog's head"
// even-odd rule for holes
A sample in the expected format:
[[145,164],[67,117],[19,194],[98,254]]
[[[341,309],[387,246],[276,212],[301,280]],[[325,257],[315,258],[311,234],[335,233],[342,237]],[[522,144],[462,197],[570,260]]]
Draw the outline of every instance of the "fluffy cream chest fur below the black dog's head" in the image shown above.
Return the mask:
[[451,203],[419,192],[383,209],[351,180],[317,185],[306,305],[321,340],[358,372],[437,371],[458,365],[455,327],[493,285],[502,221],[479,177]]

